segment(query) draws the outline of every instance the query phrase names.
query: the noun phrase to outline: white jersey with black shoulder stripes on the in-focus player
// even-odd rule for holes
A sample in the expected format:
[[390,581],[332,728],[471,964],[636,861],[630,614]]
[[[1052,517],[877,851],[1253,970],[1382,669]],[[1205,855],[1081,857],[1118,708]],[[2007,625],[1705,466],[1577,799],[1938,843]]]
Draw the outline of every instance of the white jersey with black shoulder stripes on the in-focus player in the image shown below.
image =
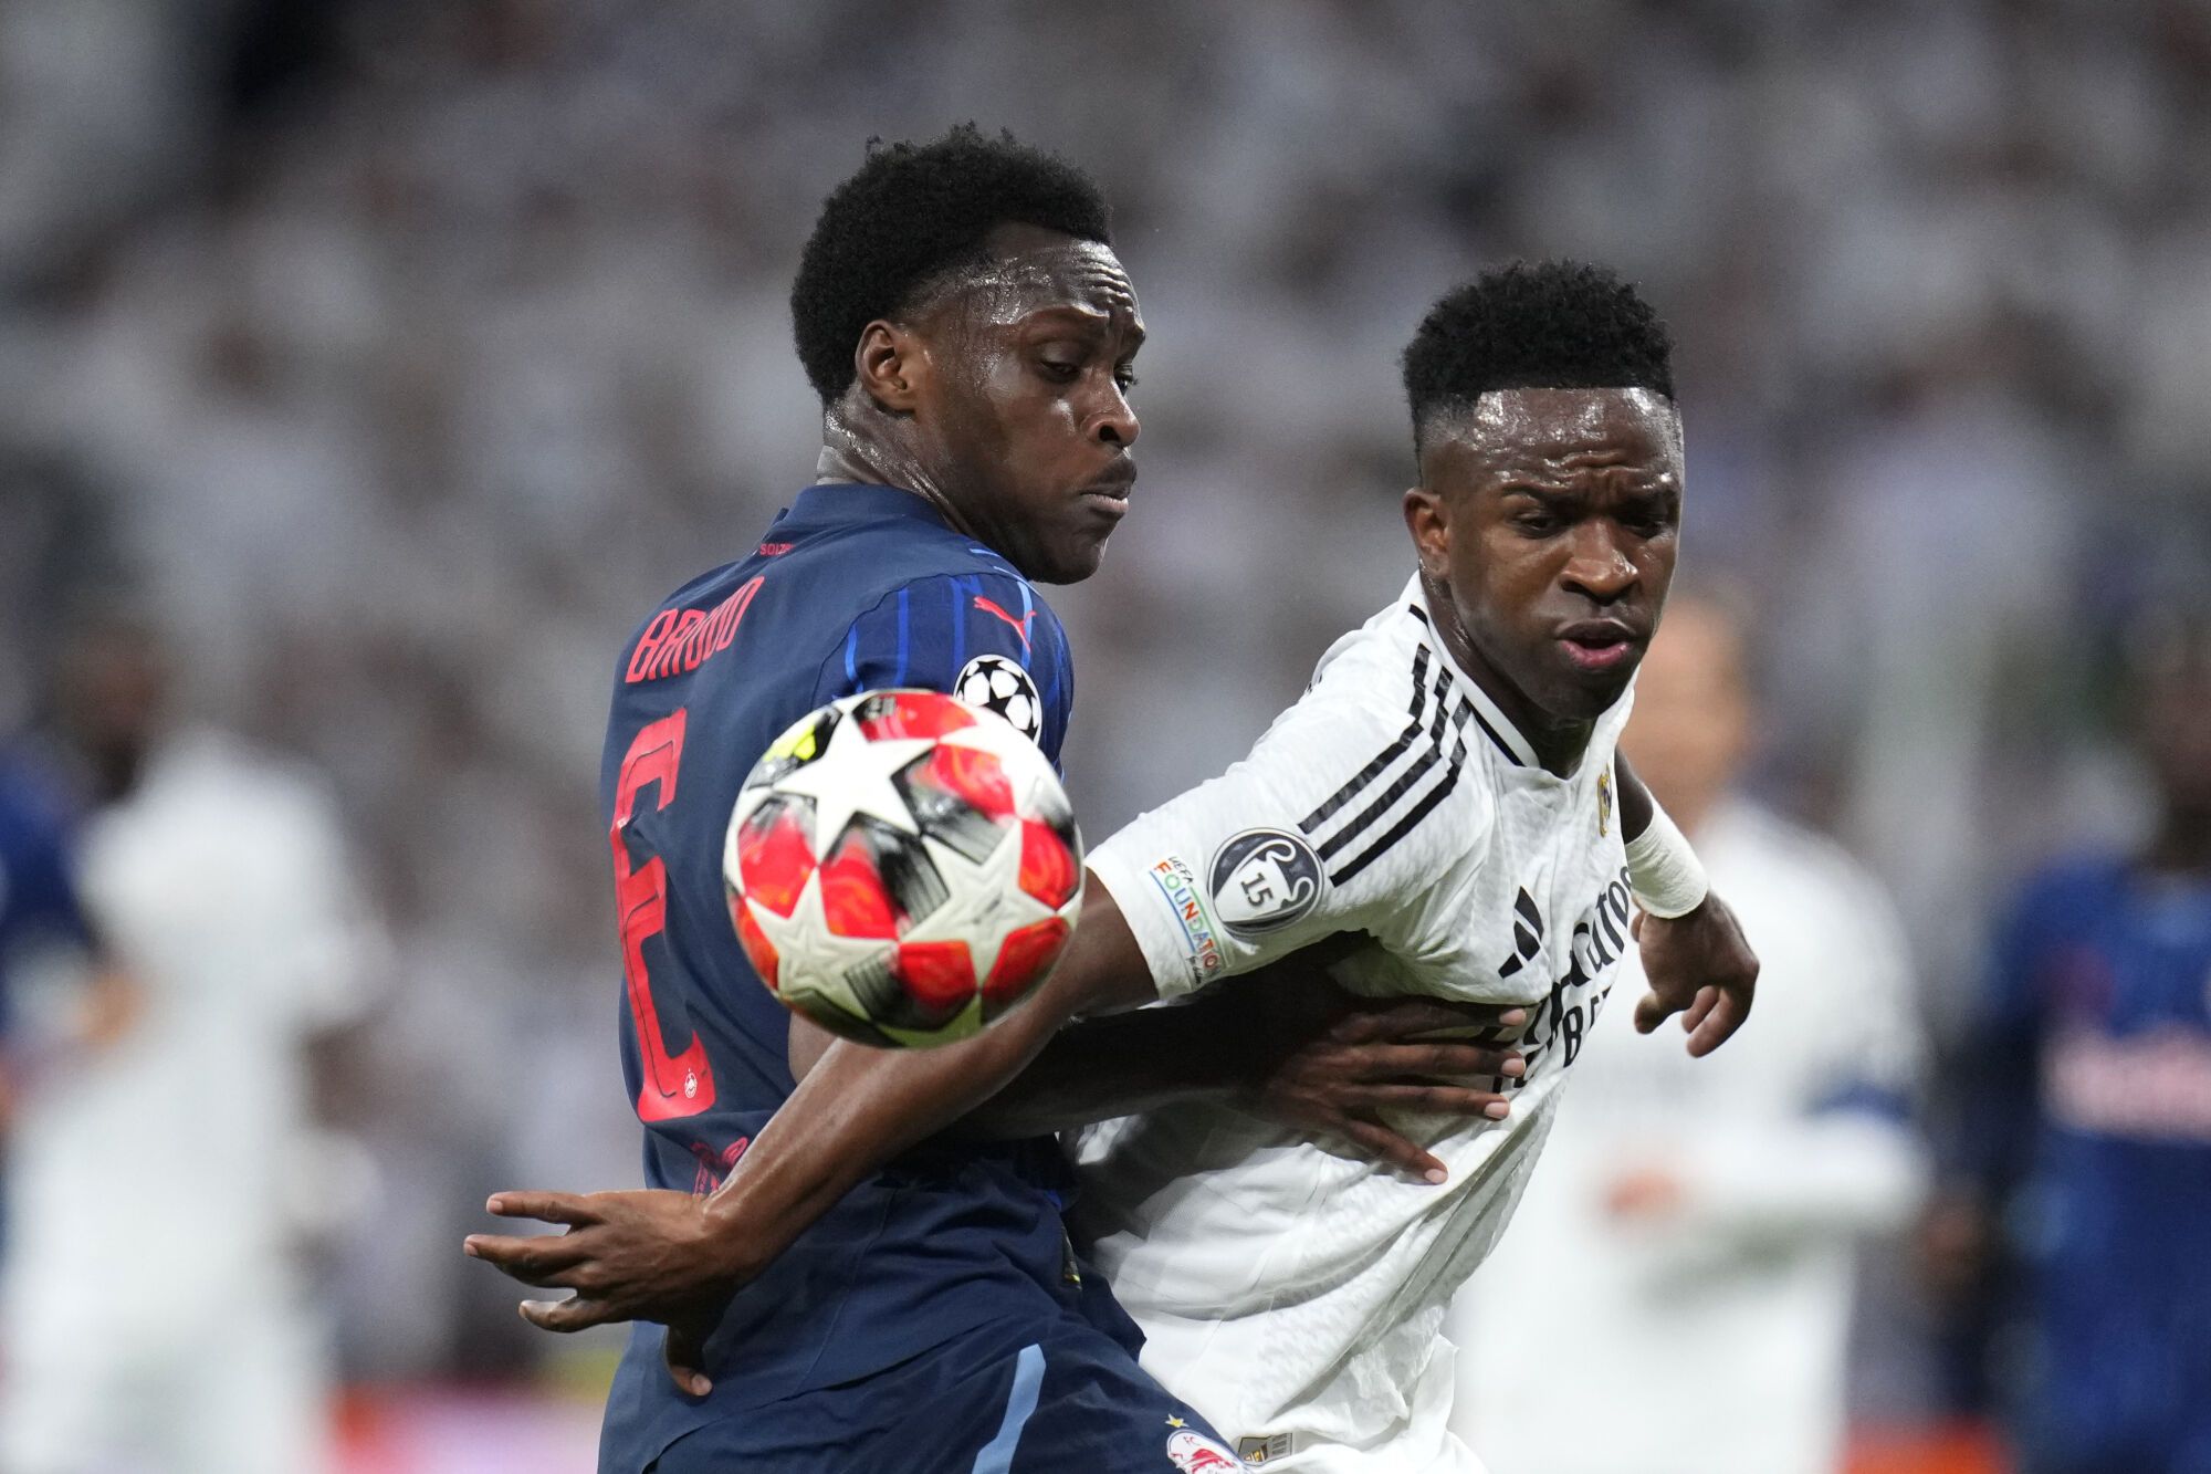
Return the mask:
[[[1501,1122],[1402,1118],[1450,1180],[1229,1104],[1083,1133],[1077,1226],[1143,1326],[1143,1366],[1245,1459],[1473,1470],[1446,1428],[1450,1293],[1503,1231],[1627,938],[1607,710],[1545,772],[1457,668],[1415,578],[1322,657],[1251,755],[1090,854],[1161,996],[1335,932],[1353,992],[1528,1005]],[[1503,1082],[1510,1087],[1510,1082]]]

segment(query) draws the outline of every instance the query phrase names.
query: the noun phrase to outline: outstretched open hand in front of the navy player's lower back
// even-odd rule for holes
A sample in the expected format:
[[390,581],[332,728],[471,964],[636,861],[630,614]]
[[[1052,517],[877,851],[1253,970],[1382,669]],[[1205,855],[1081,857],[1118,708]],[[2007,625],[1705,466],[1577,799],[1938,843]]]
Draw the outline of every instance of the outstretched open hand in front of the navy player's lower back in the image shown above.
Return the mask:
[[624,1193],[497,1193],[497,1217],[566,1224],[557,1235],[473,1233],[464,1250],[502,1275],[570,1299],[526,1299],[522,1319],[539,1330],[584,1330],[608,1321],[668,1326],[668,1370],[692,1397],[710,1385],[703,1341],[750,1266],[719,1253],[712,1200],[637,1188]]

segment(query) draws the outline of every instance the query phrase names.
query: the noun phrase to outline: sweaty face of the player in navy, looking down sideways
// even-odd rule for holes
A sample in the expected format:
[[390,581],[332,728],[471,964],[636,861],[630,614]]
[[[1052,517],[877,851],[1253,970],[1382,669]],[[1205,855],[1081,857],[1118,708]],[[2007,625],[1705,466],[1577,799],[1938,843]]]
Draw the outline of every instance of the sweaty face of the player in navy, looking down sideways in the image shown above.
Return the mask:
[[1110,248],[1002,226],[991,259],[915,312],[915,412],[944,498],[1035,580],[1097,573],[1136,480],[1143,314]]

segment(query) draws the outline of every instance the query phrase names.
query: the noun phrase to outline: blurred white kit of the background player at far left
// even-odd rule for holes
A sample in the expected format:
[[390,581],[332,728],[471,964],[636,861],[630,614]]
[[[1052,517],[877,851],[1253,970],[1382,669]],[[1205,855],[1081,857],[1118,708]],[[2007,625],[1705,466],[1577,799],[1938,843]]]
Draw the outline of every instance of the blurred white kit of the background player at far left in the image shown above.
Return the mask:
[[303,1047],[376,954],[336,814],[212,733],[91,817],[82,890],[144,1016],[46,1071],[13,1142],[9,1474],[312,1474],[329,1372],[301,1248],[334,1173]]

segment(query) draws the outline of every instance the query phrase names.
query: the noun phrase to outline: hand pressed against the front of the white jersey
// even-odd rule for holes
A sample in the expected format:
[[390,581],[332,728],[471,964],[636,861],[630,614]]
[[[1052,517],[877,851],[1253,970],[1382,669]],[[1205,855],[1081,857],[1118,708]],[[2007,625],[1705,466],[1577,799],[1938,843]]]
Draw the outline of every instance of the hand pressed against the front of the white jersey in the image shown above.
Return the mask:
[[1526,1065],[1501,1036],[1526,1020],[1517,1007],[1309,989],[1291,1018],[1274,1018],[1276,1045],[1238,1098],[1258,1115],[1444,1182],[1444,1164],[1384,1124],[1382,1111],[1503,1120],[1510,1107],[1495,1084]]

